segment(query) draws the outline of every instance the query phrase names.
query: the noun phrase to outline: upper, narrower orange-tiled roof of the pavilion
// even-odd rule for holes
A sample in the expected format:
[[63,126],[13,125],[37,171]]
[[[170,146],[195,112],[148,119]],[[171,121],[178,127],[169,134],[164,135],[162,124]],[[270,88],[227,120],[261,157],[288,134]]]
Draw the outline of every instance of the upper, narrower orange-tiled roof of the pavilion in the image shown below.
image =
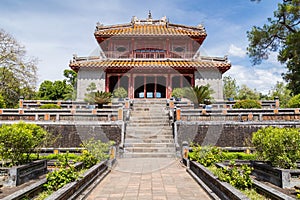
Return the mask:
[[95,36],[151,36],[151,35],[172,35],[172,36],[190,36],[206,37],[205,29],[201,27],[190,27],[175,24],[133,24],[119,25],[111,27],[99,27]]

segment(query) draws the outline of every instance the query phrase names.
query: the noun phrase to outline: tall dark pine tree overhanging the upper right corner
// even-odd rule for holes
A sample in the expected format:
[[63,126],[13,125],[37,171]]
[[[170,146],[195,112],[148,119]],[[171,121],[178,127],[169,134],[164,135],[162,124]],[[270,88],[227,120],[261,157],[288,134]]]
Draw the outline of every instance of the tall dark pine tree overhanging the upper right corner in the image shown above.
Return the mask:
[[294,95],[300,93],[299,18],[300,0],[284,1],[278,4],[273,19],[268,18],[267,24],[247,32],[247,51],[252,63],[260,64],[271,52],[278,52],[277,60],[288,69],[283,78]]

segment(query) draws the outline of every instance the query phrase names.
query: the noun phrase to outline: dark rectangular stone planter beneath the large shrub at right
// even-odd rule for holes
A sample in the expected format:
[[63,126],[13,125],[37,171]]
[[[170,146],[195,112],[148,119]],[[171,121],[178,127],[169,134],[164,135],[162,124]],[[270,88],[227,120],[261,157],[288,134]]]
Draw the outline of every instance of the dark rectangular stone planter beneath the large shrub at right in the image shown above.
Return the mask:
[[281,188],[293,188],[300,185],[300,169],[281,169],[264,162],[251,162],[252,174],[260,180],[268,181]]

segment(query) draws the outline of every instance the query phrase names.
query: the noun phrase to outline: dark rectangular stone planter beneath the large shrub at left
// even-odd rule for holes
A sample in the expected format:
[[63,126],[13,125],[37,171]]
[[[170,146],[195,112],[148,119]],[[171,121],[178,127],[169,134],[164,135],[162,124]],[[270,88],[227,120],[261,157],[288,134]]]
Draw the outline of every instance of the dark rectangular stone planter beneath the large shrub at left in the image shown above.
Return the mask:
[[21,185],[31,179],[47,173],[47,160],[37,160],[31,163],[11,168],[0,168],[0,184],[5,187]]

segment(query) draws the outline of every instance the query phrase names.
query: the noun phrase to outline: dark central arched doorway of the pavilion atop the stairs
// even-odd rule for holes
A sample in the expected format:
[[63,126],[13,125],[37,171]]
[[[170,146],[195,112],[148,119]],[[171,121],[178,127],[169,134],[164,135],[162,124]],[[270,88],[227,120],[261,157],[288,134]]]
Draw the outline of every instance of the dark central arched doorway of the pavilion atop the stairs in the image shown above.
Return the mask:
[[166,98],[166,78],[164,76],[136,76],[134,98]]

